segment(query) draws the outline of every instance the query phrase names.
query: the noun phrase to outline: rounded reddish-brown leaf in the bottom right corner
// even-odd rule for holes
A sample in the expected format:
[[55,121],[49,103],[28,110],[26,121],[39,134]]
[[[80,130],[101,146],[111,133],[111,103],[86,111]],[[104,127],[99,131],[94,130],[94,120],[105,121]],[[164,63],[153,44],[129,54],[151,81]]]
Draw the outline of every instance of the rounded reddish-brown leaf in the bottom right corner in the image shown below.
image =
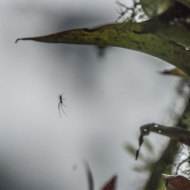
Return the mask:
[[165,175],[162,178],[167,190],[190,190],[190,180],[181,175]]

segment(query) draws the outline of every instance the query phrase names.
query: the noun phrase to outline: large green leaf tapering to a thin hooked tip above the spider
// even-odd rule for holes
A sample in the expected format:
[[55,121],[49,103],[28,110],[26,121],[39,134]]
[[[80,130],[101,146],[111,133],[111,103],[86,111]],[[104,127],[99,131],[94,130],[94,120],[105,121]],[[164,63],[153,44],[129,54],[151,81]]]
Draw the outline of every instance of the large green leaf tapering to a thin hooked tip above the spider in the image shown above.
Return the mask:
[[190,52],[185,50],[190,48],[189,30],[155,19],[73,29],[47,36],[20,38],[16,42],[19,40],[122,47],[158,57],[190,74]]

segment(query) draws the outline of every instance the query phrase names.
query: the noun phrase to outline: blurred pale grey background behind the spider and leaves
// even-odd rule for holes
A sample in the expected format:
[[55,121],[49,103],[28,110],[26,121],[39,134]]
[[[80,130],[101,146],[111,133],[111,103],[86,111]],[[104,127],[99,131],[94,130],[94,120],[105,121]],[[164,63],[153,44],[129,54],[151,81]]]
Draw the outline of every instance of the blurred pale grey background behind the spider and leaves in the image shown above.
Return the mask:
[[[130,0],[120,1],[132,5]],[[138,148],[139,127],[173,125],[183,101],[172,65],[122,48],[15,40],[115,22],[115,0],[0,1],[0,189],[87,189],[118,175],[117,189],[140,189],[148,172],[126,150]],[[68,107],[58,110],[58,94]],[[159,155],[167,138],[147,137]]]

